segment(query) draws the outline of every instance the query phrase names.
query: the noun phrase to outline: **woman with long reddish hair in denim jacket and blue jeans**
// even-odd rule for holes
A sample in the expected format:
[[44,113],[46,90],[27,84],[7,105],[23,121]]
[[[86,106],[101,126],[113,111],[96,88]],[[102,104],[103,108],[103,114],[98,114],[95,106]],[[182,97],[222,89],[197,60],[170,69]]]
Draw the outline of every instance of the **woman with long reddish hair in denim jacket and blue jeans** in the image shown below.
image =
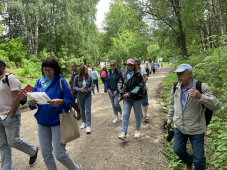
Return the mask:
[[89,134],[91,133],[91,91],[94,89],[94,83],[86,65],[80,66],[79,76],[74,78],[73,89],[77,91],[77,102],[83,121],[80,128],[87,127],[86,132]]

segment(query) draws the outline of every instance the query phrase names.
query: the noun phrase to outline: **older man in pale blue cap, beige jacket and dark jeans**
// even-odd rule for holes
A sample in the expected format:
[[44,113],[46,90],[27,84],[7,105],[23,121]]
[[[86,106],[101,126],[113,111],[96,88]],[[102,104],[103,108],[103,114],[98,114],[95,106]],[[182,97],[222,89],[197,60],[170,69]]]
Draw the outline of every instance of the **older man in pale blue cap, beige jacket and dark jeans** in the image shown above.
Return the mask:
[[[189,64],[181,64],[174,71],[177,73],[178,84],[174,86],[170,96],[170,109],[167,127],[174,122],[173,151],[186,164],[186,169],[206,169],[204,156],[204,136],[206,132],[205,109],[218,110],[220,102],[213,95],[211,88],[201,84],[202,94],[195,88],[197,81],[193,78],[193,69]],[[186,143],[190,139],[193,155],[186,150]]]

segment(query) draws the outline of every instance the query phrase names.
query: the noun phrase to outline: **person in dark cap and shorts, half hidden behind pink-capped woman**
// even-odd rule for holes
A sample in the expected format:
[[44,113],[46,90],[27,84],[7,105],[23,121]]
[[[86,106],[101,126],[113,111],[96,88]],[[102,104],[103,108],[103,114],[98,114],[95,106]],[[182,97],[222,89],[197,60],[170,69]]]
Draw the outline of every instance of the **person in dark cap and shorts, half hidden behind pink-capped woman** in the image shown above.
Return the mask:
[[[147,90],[147,85],[146,85],[146,81],[148,80],[147,73],[146,73],[144,68],[140,67],[140,60],[139,59],[135,60],[135,64],[140,69],[140,74],[143,76],[143,80],[144,80],[144,83],[145,83],[145,86],[146,86],[146,90]],[[148,103],[148,94],[147,94],[147,91],[146,91],[145,95],[143,96],[143,101],[142,101],[143,118],[144,118],[145,122],[148,122],[148,120],[149,120],[148,116],[147,116],[148,105],[149,105],[149,103]]]

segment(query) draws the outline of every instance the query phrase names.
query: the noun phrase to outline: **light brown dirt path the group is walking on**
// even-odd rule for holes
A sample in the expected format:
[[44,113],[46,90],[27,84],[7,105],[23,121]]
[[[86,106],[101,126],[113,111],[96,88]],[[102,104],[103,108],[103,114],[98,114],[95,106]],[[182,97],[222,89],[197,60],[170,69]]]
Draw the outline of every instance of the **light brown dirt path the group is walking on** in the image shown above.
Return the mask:
[[[83,170],[165,170],[169,169],[169,161],[160,152],[163,148],[163,129],[161,114],[156,100],[156,91],[162,79],[171,70],[163,67],[155,75],[149,76],[147,82],[149,95],[149,122],[142,121],[141,139],[134,138],[135,118],[133,110],[129,120],[128,135],[125,142],[117,137],[121,132],[121,122],[113,124],[114,114],[107,94],[92,96],[92,133],[87,135],[86,129],[80,130],[81,137],[67,144],[67,151]],[[122,106],[122,102],[120,103]],[[22,113],[21,138],[38,146],[37,123],[35,111]],[[81,120],[78,121],[79,126]],[[17,170],[45,170],[45,164],[39,152],[34,166],[28,165],[29,157],[13,149],[13,165]],[[57,162],[59,170],[65,170]]]

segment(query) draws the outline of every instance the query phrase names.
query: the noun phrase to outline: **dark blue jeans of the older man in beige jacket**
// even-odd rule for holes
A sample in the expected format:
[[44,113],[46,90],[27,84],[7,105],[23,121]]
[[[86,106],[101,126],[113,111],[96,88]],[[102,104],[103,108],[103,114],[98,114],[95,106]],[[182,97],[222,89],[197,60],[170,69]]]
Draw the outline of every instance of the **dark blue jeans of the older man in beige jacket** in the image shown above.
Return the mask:
[[[193,155],[186,150],[186,143],[190,139]],[[173,151],[180,159],[188,165],[194,162],[195,170],[206,169],[206,158],[204,156],[204,133],[199,135],[184,135],[177,128],[174,129]]]

